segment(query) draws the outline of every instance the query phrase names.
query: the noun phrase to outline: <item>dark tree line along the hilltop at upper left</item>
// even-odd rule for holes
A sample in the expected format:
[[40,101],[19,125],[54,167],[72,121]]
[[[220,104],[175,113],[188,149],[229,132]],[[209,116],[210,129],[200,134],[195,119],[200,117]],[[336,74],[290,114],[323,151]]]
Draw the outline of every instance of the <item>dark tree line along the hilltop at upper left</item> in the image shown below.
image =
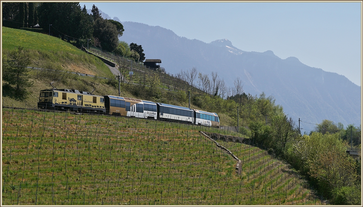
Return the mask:
[[135,61],[144,61],[145,54],[141,45],[131,43],[125,45],[120,42],[125,29],[114,20],[103,19],[99,9],[93,5],[91,14],[87,13],[76,2],[6,2],[3,3],[3,26],[11,28],[31,28],[36,24],[68,42],[75,41],[75,45],[87,45],[87,40],[102,50],[114,52],[118,55],[131,57]]

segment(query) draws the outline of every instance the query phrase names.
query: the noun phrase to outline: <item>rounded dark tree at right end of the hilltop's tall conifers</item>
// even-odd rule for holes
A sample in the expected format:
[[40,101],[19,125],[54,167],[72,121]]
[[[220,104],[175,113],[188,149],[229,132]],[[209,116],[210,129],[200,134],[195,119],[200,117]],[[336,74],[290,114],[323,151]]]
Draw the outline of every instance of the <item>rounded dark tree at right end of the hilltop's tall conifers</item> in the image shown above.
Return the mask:
[[103,50],[114,51],[118,46],[116,26],[103,18],[97,18],[93,24],[93,37],[98,38]]

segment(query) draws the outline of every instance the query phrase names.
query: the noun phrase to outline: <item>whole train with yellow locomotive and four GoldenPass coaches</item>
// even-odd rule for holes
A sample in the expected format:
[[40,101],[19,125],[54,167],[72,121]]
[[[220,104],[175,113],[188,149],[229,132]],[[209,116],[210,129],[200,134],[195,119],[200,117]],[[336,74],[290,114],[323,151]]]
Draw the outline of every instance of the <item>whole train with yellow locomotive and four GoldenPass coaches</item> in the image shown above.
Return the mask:
[[91,92],[74,89],[53,88],[41,90],[38,99],[38,108],[101,113],[220,127],[217,113],[121,96],[97,96],[91,94]]

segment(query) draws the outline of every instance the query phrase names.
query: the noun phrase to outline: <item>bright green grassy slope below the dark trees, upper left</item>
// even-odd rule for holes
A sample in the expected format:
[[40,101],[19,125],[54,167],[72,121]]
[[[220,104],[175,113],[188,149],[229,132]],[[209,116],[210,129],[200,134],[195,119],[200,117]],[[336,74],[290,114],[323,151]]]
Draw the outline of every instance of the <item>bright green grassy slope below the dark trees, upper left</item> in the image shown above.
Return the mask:
[[2,27],[3,54],[15,47],[29,50],[32,66],[47,69],[78,71],[107,77],[109,68],[94,55],[88,55],[60,38],[21,29]]

